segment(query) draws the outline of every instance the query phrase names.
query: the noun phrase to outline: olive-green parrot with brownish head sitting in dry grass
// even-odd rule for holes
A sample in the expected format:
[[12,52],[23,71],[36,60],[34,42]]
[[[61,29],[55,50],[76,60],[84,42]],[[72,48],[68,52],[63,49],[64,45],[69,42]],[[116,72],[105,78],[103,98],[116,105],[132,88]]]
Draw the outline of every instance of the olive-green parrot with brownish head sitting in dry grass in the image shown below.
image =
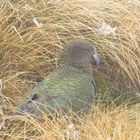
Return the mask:
[[76,114],[87,112],[95,102],[96,85],[91,67],[95,63],[99,65],[99,55],[91,41],[70,41],[63,47],[56,69],[31,90],[15,114],[41,116],[70,110]]

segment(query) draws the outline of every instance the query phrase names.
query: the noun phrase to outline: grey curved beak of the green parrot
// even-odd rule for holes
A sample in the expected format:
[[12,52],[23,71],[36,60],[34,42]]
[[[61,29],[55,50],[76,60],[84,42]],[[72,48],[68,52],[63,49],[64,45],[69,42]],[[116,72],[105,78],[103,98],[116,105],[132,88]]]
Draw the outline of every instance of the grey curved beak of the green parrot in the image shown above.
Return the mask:
[[96,48],[94,48],[94,51],[92,53],[92,56],[91,56],[91,63],[94,65],[96,64],[97,68],[99,68],[99,65],[100,65],[100,58],[99,58],[99,55],[96,51]]

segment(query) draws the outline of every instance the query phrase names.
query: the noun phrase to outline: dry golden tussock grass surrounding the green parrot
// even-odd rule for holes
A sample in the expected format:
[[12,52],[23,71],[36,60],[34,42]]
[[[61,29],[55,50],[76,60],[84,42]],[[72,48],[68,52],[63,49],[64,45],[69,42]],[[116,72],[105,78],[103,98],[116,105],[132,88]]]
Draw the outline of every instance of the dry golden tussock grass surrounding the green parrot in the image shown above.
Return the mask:
[[[41,28],[35,19],[43,24]],[[117,27],[114,35],[97,33],[103,22]],[[140,139],[139,107],[134,104],[140,92],[139,23],[139,0],[1,0],[0,103],[4,113],[13,110],[55,68],[63,44],[85,38],[96,44],[101,67],[94,70],[98,107],[78,117],[79,139]],[[117,107],[126,101],[134,102],[131,107]],[[110,103],[113,107],[103,107]],[[54,121],[24,117],[13,124],[7,122],[10,125],[0,130],[0,138],[62,139],[69,123],[64,117]]]

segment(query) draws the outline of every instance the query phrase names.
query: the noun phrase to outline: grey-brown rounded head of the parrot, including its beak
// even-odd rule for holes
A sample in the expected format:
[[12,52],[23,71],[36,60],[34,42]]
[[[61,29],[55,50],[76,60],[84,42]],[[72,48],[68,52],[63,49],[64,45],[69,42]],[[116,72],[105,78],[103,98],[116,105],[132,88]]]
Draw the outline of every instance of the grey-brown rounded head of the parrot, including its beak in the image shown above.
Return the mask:
[[86,68],[91,64],[96,64],[99,67],[99,56],[95,45],[87,40],[74,40],[64,46],[61,55],[61,64]]

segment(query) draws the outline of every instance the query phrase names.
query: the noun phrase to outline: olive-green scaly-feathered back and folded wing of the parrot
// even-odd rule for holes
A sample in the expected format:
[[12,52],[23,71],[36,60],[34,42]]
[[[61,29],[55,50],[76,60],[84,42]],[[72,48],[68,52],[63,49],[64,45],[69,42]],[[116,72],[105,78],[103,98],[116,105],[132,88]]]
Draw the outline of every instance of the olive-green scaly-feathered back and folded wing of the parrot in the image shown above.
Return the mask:
[[[85,95],[87,90],[89,94],[95,92],[93,91],[95,89],[95,82],[94,80],[91,81],[92,79],[87,75],[75,71],[71,72],[68,70],[68,72],[66,72],[66,70],[61,70],[61,73],[58,71],[57,73],[51,73],[46,79],[33,88],[31,94],[23,100],[18,110],[37,114],[35,113],[37,109],[46,112],[45,110],[48,107],[54,108],[54,102],[67,107],[69,99],[72,99],[75,106],[79,106],[77,98],[88,101],[90,100],[90,95],[89,97]],[[47,107],[45,105],[47,105]]]

